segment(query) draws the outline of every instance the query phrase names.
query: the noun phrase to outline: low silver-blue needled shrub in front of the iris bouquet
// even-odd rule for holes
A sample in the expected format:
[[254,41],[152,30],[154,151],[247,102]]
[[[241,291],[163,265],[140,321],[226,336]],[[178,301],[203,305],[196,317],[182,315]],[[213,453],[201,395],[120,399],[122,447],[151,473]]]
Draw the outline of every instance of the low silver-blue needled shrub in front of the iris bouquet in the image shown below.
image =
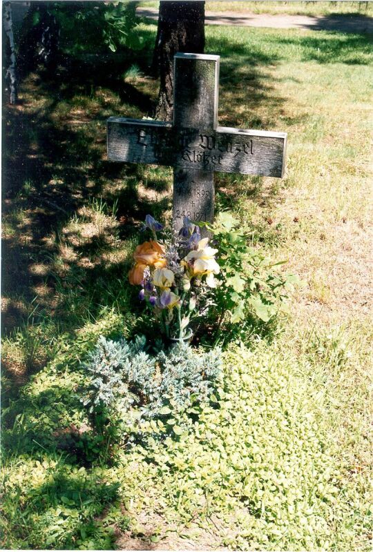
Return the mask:
[[136,410],[137,418],[149,419],[168,404],[184,409],[207,402],[222,360],[219,348],[202,352],[180,344],[150,355],[144,336],[134,342],[101,336],[83,366],[88,388],[82,402],[90,413]]

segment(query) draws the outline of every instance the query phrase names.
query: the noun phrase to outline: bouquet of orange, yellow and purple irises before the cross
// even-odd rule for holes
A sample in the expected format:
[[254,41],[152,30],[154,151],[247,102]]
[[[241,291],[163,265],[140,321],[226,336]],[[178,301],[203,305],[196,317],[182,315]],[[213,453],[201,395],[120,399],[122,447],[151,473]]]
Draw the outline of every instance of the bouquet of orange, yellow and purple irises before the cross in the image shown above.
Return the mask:
[[176,238],[167,238],[151,215],[146,215],[144,229],[151,230],[153,239],[135,249],[129,282],[141,286],[139,298],[160,319],[166,336],[183,339],[190,333],[191,319],[204,311],[207,290],[216,287],[218,250],[209,246],[209,238],[202,238],[199,226],[187,217]]

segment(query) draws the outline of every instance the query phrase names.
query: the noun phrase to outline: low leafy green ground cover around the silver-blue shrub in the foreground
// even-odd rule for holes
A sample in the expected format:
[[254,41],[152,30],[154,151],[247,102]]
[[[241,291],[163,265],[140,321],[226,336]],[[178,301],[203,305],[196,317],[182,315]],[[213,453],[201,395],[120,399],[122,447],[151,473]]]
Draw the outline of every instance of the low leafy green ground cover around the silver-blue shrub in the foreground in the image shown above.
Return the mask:
[[[108,322],[90,332],[113,331],[119,321]],[[15,451],[3,473],[6,546],[105,548],[125,519],[133,535],[160,538],[160,546],[171,528],[196,542],[213,531],[216,542],[235,549],[365,549],[371,512],[357,411],[367,396],[363,374],[352,375],[363,370],[362,344],[346,343],[343,330],[304,337],[298,355],[285,335],[270,347],[231,347],[219,403],[204,409],[193,431],[119,451],[111,468],[102,456],[101,465],[82,466],[82,437],[61,431],[86,423],[77,393],[83,374],[73,358],[84,346],[64,344],[58,361],[23,388],[12,406],[15,424],[3,434]],[[350,403],[352,384],[359,391],[344,451],[353,444],[354,455],[341,458],[339,410]],[[106,504],[111,509],[100,517]]]

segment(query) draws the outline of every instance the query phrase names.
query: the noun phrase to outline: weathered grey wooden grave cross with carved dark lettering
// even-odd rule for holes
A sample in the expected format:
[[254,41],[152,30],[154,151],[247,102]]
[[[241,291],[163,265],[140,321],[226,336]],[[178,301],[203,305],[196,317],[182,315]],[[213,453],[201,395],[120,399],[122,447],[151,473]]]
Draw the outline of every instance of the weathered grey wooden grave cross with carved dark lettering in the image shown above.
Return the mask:
[[173,228],[213,221],[214,171],[283,177],[285,132],[218,126],[220,56],[176,54],[173,123],[110,117],[108,159],[173,166]]

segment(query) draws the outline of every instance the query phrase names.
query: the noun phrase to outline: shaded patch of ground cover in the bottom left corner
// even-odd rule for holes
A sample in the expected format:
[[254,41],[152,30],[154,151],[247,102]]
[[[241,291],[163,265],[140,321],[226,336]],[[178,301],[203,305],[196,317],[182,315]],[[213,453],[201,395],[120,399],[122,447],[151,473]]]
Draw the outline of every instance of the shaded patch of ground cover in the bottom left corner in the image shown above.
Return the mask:
[[[74,466],[61,459],[55,469],[49,468],[46,457],[44,453],[41,464],[45,482],[18,489],[16,512],[7,500],[3,503],[3,523],[12,542],[30,549],[75,549],[77,544],[82,549],[113,549],[114,531],[102,521],[108,506],[119,500],[119,484],[100,481],[88,471],[73,473]],[[127,525],[128,517],[123,521]]]

